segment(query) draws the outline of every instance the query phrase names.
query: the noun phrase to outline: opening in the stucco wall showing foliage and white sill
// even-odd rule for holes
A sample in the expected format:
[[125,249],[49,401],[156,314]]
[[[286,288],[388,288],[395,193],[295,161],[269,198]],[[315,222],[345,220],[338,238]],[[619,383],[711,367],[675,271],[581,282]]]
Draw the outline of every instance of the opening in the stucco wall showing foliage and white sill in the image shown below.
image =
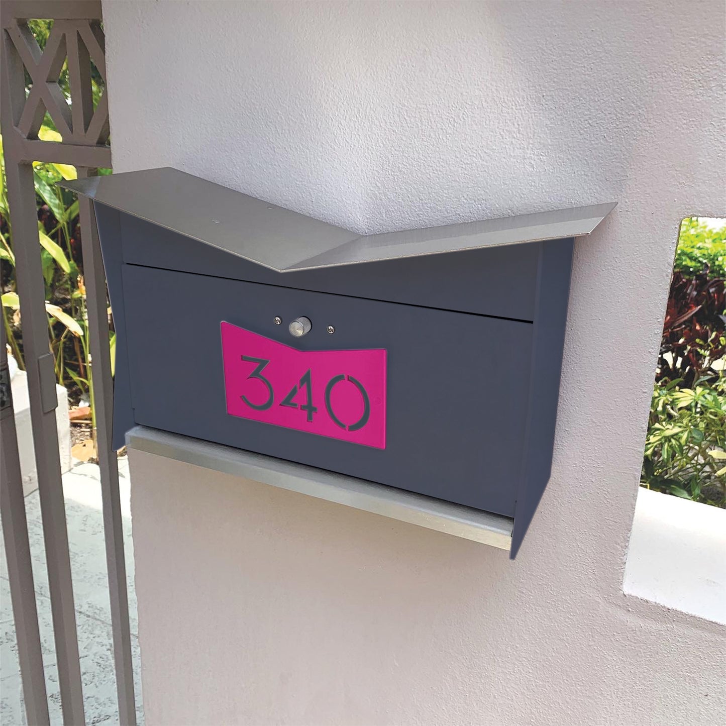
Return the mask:
[[726,219],[684,219],[623,581],[626,595],[722,624],[725,282]]

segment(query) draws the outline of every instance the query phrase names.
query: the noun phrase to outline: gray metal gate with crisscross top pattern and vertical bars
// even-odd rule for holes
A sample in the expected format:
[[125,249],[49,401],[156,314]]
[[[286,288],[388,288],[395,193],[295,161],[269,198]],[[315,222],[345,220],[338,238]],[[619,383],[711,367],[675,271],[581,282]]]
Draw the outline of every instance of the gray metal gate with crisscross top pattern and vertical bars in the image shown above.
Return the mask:
[[[30,417],[35,441],[52,623],[63,721],[83,724],[83,691],[78,660],[76,613],[61,481],[54,359],[49,353],[41,246],[33,184],[33,161],[76,166],[78,177],[111,166],[107,90],[94,109],[91,62],[105,81],[105,46],[100,0],[4,0],[2,25],[1,129],[15,253],[17,292],[23,321]],[[51,19],[44,49],[28,28],[33,18]],[[58,84],[65,62],[70,104]],[[31,87],[26,97],[25,73]],[[49,113],[62,142],[42,141],[38,131]],[[135,724],[129,605],[123,552],[118,462],[111,450],[113,380],[110,369],[106,283],[89,200],[79,200],[83,272],[88,306],[90,360],[96,410],[118,711],[122,724]],[[12,611],[28,723],[48,724],[44,666],[38,629],[23,483],[17,451],[5,332],[1,330],[1,515],[7,552]]]

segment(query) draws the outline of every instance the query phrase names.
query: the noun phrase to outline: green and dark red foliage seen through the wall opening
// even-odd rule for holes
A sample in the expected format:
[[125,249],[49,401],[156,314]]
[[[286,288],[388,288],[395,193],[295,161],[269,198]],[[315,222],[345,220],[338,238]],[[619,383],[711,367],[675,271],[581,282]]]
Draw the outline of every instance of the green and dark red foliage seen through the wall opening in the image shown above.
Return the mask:
[[726,506],[726,220],[685,219],[650,407],[641,484]]

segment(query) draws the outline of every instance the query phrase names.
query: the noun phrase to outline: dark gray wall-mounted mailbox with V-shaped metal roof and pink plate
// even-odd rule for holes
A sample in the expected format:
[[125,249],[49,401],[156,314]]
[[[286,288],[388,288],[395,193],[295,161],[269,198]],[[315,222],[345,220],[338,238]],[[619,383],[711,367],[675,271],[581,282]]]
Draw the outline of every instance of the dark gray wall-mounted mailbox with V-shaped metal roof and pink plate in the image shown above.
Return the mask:
[[94,202],[116,448],[142,425],[468,507],[516,555],[550,478],[574,238],[614,204],[360,236],[172,168],[62,185]]

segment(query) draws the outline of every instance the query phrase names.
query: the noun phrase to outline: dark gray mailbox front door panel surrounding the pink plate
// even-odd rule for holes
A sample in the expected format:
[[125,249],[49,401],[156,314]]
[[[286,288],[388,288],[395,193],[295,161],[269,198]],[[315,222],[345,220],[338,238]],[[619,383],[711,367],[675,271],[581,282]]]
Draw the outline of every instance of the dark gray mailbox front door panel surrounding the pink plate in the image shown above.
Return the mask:
[[[123,268],[136,423],[513,515],[531,323]],[[300,315],[313,327],[295,339],[286,324]],[[300,351],[386,349],[386,448],[229,415],[222,321]],[[290,370],[289,385],[303,373]],[[275,406],[286,393],[275,388]],[[313,402],[325,415],[325,401]]]

